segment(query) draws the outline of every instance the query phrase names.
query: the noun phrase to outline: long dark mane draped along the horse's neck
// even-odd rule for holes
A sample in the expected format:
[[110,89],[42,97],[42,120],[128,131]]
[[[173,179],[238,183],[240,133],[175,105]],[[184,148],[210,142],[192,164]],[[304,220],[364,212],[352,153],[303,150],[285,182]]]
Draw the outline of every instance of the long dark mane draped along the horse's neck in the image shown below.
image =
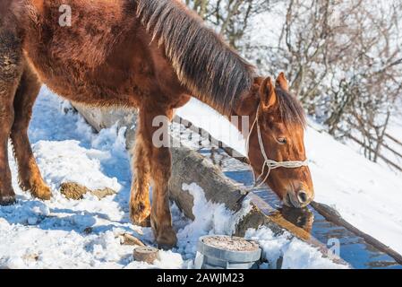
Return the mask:
[[138,17],[165,49],[180,82],[200,100],[229,114],[252,87],[252,65],[184,4],[176,0],[135,2]]

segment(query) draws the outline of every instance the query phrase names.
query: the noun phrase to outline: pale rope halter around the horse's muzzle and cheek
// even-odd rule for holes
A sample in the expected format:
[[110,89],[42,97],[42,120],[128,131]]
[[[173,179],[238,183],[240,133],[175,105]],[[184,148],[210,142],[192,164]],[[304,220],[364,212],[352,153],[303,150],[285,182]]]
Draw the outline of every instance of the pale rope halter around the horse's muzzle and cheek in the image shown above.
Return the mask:
[[[265,152],[264,143],[262,142],[261,126],[260,126],[260,121],[259,121],[260,115],[259,114],[260,114],[260,105],[257,108],[257,113],[255,115],[254,123],[252,124],[250,133],[247,136],[247,142],[246,142],[246,147],[245,147],[247,154],[249,154],[250,137],[252,135],[252,130],[254,129],[255,126],[257,126],[258,142],[260,143],[260,150],[261,150],[262,156],[264,157],[264,163],[262,164],[261,175],[258,178],[256,178],[255,172],[252,172],[252,174],[254,176],[254,187],[253,188],[261,187],[264,184],[264,182],[267,181],[267,179],[269,178],[270,172],[272,170],[276,170],[279,168],[298,169],[298,168],[308,166],[308,160],[305,160],[305,161],[272,161],[272,160],[269,160],[267,153]],[[266,173],[266,175],[264,178],[265,173]]]

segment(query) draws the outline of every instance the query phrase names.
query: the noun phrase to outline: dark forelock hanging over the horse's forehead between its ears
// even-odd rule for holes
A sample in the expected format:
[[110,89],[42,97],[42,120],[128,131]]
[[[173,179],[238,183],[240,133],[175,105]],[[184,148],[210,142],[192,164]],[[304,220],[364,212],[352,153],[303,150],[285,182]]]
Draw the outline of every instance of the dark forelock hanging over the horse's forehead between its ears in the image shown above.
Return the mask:
[[301,125],[305,128],[306,117],[300,100],[282,88],[276,88],[278,99],[278,114],[287,127]]

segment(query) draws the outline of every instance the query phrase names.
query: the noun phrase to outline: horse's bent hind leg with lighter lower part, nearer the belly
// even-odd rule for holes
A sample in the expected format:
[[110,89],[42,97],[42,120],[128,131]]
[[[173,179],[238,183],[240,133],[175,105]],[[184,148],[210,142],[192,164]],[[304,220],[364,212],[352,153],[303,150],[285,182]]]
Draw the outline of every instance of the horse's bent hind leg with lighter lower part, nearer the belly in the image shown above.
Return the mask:
[[38,97],[40,86],[41,83],[38,81],[38,76],[27,65],[22,74],[21,83],[15,94],[13,103],[15,116],[11,139],[14,155],[18,163],[21,189],[30,191],[32,196],[47,200],[51,197],[50,188],[47,187],[40,175],[28,138],[30,117],[33,105]]

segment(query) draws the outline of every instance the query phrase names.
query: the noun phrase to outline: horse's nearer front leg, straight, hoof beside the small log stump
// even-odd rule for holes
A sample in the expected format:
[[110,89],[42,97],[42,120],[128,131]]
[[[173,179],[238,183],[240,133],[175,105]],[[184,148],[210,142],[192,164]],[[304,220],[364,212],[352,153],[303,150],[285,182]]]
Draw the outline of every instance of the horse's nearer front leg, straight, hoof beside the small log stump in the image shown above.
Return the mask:
[[[152,179],[152,208],[150,212],[150,222],[155,238],[160,248],[172,248],[177,242],[175,230],[172,227],[172,216],[169,206],[168,181],[171,175],[172,160],[168,147],[168,121],[173,116],[171,109],[164,108],[144,108],[140,109],[139,136],[141,149],[147,151],[146,157],[149,159],[145,171],[150,171]],[[138,142],[137,142],[138,143]],[[144,154],[142,154],[144,156]],[[137,166],[140,170],[141,166]],[[143,175],[143,171],[140,173]],[[137,182],[140,182],[137,179]],[[145,181],[141,180],[142,191],[148,190]],[[134,181],[135,184],[135,181]],[[145,195],[145,192],[143,192]],[[142,196],[142,205],[148,204],[148,197]],[[140,206],[138,202],[137,206]],[[146,213],[143,214],[145,216]]]

